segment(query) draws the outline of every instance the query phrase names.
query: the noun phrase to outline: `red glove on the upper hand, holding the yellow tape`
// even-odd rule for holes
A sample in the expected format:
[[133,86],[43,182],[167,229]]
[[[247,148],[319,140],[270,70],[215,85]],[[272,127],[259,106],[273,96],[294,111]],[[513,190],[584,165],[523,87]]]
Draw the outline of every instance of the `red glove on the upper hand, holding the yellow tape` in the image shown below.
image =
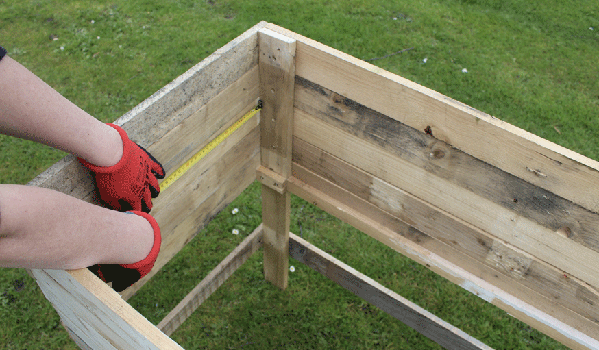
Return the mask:
[[164,168],[143,147],[129,139],[127,133],[114,124],[123,140],[123,158],[114,166],[103,168],[79,158],[90,171],[95,173],[100,197],[112,209],[125,212],[141,210],[149,212],[152,198],[160,193],[157,179],[164,178]]

